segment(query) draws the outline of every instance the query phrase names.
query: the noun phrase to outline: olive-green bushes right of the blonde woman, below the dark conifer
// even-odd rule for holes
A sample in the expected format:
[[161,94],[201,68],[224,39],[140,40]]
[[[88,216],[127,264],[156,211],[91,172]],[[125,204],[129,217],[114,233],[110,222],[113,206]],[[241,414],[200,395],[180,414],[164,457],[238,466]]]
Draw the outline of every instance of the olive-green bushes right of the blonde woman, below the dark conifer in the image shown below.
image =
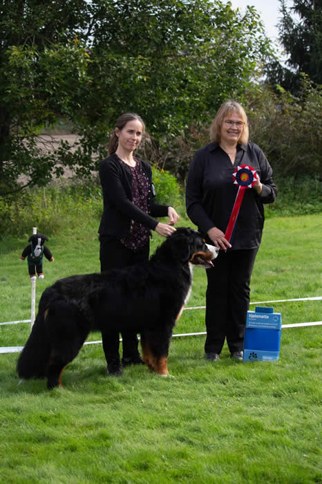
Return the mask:
[[[303,76],[301,91],[294,96],[283,88],[274,93],[268,86],[247,95],[250,138],[264,151],[274,169],[274,177],[301,183],[303,176],[321,174],[322,91]],[[294,193],[297,187],[294,186]]]

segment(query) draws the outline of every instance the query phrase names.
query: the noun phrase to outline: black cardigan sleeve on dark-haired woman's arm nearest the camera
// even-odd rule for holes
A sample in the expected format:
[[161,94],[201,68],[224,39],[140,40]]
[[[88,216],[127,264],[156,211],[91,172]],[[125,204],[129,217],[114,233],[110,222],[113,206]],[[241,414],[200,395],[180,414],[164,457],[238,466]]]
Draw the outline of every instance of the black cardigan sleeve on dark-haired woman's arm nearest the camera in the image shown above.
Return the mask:
[[122,176],[122,171],[115,162],[109,162],[108,160],[101,162],[100,180],[105,192],[105,203],[109,203],[117,212],[138,223],[142,223],[145,227],[151,230],[155,229],[158,221],[143,212],[143,210],[140,210],[126,194],[124,176]]

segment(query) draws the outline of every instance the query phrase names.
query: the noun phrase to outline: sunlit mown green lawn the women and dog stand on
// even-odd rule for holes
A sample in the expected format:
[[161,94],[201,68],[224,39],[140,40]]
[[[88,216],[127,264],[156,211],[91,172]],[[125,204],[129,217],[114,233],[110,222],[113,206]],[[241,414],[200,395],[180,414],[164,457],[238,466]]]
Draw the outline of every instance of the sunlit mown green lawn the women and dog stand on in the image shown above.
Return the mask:
[[[59,277],[99,270],[97,226],[79,221],[74,236],[50,236],[55,261],[44,262],[37,300]],[[321,296],[321,235],[319,215],[269,218],[252,301]],[[25,245],[1,243],[0,322],[30,318]],[[205,304],[205,286],[196,268],[187,306]],[[283,324],[321,320],[321,301],[267,305]],[[204,318],[185,310],[175,333],[205,331]],[[22,346],[28,333],[28,324],[0,326],[0,346]],[[207,362],[205,337],[175,337],[175,378],[144,366],[108,378],[102,346],[88,345],[52,392],[44,381],[18,385],[17,354],[0,355],[0,482],[321,483],[321,335],[321,326],[285,328],[278,362],[247,364],[231,361],[227,346]]]

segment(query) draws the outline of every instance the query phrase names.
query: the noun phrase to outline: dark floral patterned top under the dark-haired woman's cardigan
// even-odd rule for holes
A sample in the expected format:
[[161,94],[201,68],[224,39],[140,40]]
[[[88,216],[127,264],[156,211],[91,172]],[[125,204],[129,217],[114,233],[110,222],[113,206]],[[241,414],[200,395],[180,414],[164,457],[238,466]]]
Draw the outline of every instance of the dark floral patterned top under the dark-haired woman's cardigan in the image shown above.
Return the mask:
[[[134,158],[136,165],[130,167],[124,163],[121,158],[119,160],[131,170],[132,174],[132,201],[146,214],[148,213],[148,196],[149,196],[149,180],[140,169],[140,160]],[[144,227],[142,223],[131,220],[131,229],[129,237],[120,239],[126,248],[133,250],[133,252],[140,250],[146,243],[149,242],[150,230]]]

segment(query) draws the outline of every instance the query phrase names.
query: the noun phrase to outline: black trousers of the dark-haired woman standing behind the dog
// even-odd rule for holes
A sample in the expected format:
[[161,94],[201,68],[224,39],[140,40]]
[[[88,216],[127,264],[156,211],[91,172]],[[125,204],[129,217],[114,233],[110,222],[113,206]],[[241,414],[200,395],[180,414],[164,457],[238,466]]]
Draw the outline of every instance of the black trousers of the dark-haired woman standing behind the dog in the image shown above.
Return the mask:
[[[118,239],[100,236],[101,272],[110,269],[121,269],[135,263],[149,260],[149,242],[138,252],[125,247]],[[126,304],[126,301],[124,301]],[[102,331],[103,349],[106,362],[120,361],[120,335],[118,331]],[[139,340],[136,333],[122,331],[123,358],[135,358],[140,355]]]

